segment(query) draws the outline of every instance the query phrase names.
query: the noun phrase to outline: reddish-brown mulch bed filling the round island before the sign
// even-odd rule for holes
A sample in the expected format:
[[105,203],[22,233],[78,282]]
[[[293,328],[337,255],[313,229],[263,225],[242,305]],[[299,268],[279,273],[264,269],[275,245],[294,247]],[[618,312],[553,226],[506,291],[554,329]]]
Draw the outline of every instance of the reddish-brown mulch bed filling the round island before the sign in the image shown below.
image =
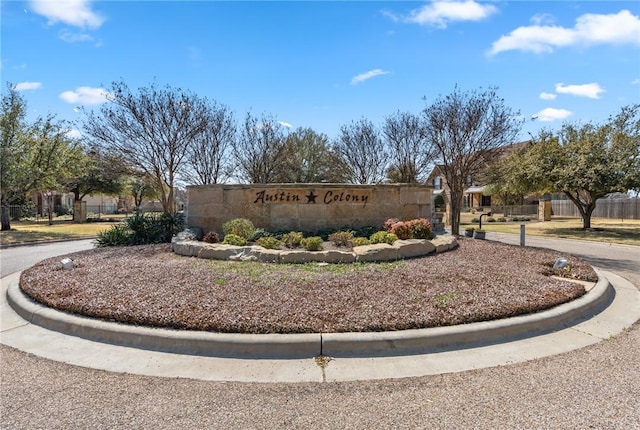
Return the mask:
[[390,263],[277,265],[202,260],[169,245],[98,248],[23,272],[38,302],[129,324],[232,333],[385,331],[548,309],[585,293],[593,269],[556,251],[459,239],[443,254]]

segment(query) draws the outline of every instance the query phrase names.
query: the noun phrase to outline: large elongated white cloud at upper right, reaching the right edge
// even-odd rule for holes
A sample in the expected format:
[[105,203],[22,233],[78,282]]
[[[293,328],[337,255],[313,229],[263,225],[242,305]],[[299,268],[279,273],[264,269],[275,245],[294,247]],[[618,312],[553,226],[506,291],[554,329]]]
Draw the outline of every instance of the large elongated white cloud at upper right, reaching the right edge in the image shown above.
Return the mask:
[[[534,20],[535,22],[535,20]],[[551,25],[519,27],[493,42],[490,55],[520,50],[534,53],[553,52],[574,45],[632,44],[640,45],[640,17],[622,10],[617,14],[585,14],[576,19],[573,28]]]

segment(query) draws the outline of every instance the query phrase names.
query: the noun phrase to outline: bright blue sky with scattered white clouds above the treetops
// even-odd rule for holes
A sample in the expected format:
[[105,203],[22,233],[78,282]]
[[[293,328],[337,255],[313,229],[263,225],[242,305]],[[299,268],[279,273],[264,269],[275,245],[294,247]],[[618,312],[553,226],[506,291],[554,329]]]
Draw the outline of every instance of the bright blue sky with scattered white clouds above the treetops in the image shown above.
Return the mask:
[[[640,103],[637,1],[1,2],[1,68],[30,118],[77,120],[156,82],[330,138],[497,86],[522,138]],[[535,118],[532,120],[531,118]]]

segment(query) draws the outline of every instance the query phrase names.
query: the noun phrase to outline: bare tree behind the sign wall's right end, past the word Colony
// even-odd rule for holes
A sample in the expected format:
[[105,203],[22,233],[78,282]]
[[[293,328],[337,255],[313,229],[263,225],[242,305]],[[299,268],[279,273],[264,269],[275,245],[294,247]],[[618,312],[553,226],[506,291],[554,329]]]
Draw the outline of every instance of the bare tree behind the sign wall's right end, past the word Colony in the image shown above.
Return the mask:
[[424,179],[433,163],[433,144],[425,138],[422,119],[408,112],[386,118],[382,133],[387,141],[392,182],[416,183]]

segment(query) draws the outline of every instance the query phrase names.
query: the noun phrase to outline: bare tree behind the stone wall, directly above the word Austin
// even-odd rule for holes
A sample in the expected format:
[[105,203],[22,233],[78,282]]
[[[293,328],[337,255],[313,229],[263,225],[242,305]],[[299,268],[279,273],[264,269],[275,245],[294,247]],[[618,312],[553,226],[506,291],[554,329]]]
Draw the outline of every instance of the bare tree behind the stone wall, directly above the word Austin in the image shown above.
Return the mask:
[[232,145],[236,175],[254,184],[277,181],[285,139],[285,128],[275,118],[247,113],[240,136]]

